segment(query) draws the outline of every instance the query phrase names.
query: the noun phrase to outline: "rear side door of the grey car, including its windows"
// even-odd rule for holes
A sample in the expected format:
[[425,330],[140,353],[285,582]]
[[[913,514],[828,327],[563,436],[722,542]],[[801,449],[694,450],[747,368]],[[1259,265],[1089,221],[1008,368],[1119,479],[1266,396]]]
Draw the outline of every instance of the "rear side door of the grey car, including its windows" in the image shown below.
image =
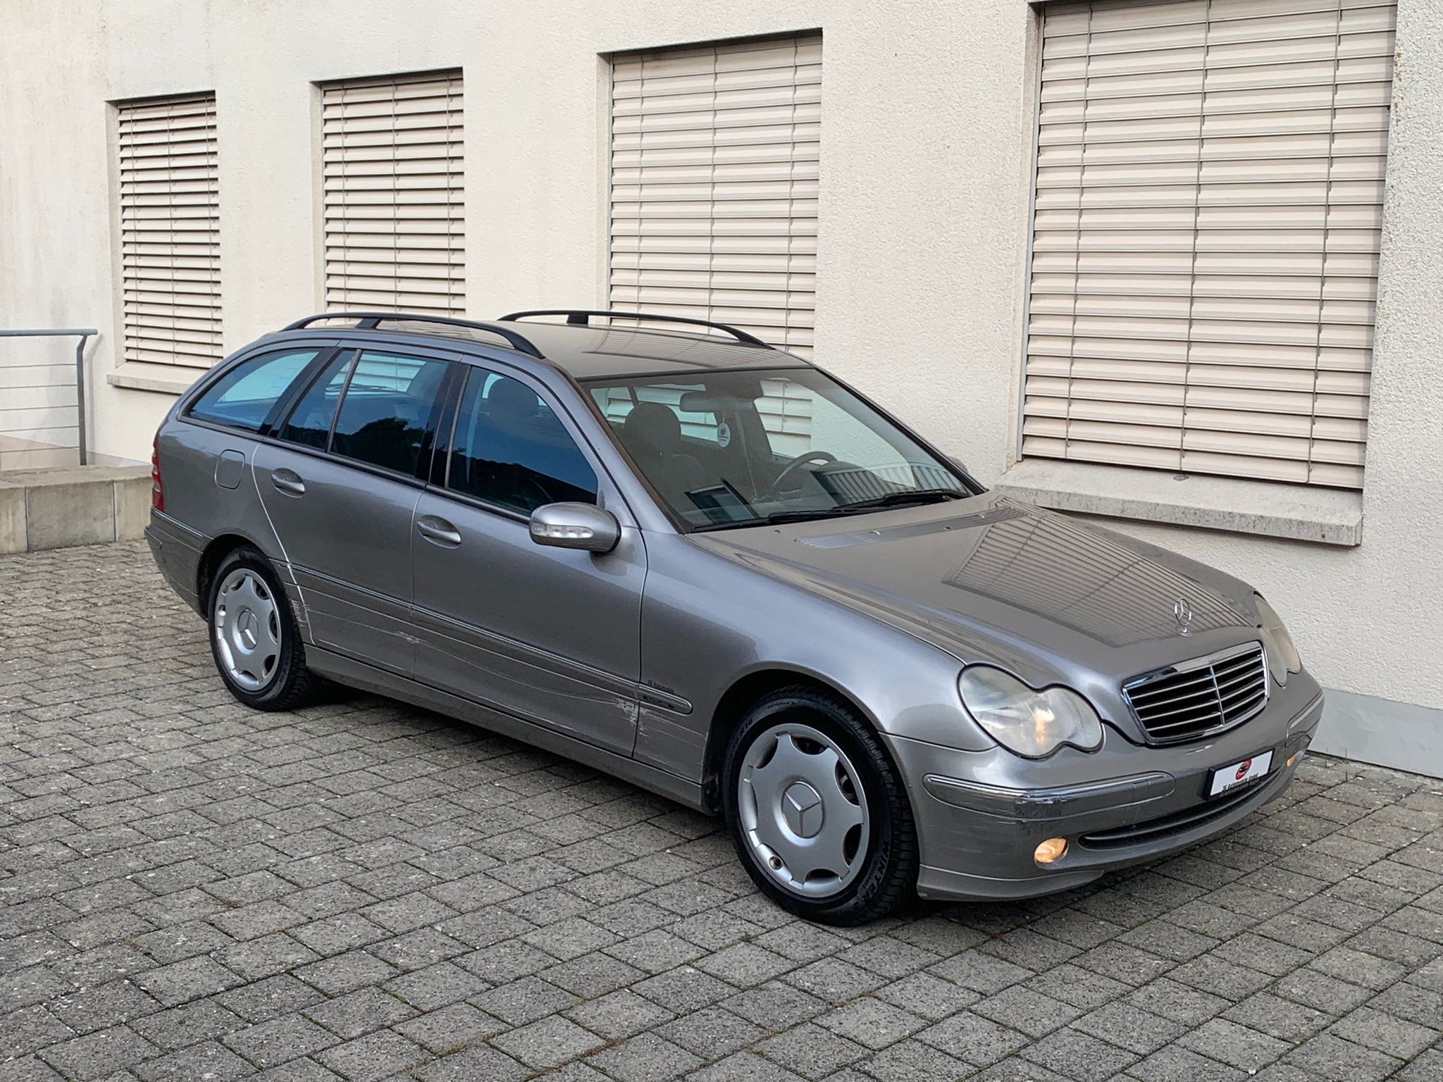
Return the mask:
[[426,351],[342,351],[255,452],[310,641],[405,675],[411,522],[449,368]]

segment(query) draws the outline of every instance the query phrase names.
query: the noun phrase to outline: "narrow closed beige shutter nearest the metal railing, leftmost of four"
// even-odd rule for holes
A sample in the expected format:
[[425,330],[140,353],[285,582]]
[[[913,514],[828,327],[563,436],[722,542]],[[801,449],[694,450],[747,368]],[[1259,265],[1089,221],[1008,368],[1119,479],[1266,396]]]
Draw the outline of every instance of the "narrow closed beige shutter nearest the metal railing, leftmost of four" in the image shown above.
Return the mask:
[[124,359],[206,368],[221,346],[215,95],[121,102]]

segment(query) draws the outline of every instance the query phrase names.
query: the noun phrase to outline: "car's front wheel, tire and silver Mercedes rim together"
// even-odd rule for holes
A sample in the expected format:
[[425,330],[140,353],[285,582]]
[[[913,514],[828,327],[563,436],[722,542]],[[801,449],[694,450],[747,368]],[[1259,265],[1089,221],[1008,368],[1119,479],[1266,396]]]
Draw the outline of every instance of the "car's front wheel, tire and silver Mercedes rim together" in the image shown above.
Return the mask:
[[782,909],[857,925],[915,890],[906,789],[876,731],[838,695],[807,687],[768,695],[732,734],[724,770],[732,840]]

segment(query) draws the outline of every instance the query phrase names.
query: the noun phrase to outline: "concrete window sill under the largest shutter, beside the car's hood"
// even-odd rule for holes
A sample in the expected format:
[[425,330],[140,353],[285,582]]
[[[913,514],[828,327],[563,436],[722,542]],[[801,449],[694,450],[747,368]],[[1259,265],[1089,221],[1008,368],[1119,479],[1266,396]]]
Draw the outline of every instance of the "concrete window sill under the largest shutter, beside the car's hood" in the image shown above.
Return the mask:
[[1166,470],[1027,459],[997,479],[1029,503],[1325,545],[1362,544],[1362,493],[1266,480],[1177,479]]

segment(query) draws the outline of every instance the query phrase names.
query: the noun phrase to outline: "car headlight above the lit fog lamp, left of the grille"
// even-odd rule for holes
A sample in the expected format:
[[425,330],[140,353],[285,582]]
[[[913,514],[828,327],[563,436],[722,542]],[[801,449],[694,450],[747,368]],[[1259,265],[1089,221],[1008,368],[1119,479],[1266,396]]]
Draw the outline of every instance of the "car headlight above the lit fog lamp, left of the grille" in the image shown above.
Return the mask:
[[988,665],[962,669],[957,688],[977,724],[1017,755],[1042,759],[1062,744],[1091,752],[1102,743],[1097,711],[1075,691],[1033,691]]

